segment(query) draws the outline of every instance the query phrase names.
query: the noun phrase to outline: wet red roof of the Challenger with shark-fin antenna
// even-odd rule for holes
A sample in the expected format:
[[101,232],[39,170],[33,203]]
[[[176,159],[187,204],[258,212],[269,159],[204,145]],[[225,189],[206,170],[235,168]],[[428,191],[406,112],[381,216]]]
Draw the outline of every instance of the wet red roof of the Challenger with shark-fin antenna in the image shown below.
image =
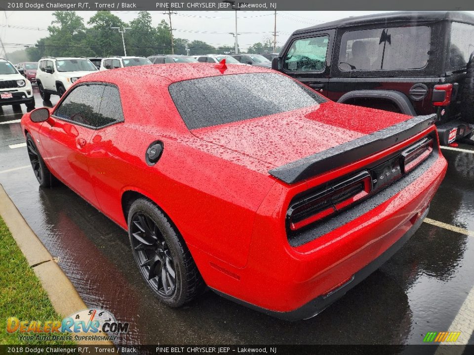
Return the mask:
[[227,65],[227,69],[219,68],[218,64],[207,63],[176,63],[155,64],[148,66],[127,67],[112,71],[95,71],[80,78],[78,81],[120,82],[156,82],[157,77],[168,79],[170,82],[190,80],[208,76],[244,74],[256,72],[276,72],[270,69],[237,64]]

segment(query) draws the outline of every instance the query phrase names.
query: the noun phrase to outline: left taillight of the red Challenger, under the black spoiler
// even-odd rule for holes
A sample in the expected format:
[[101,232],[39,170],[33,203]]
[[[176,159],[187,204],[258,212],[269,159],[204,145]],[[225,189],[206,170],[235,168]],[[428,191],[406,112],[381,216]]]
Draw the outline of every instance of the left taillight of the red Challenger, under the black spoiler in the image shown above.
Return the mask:
[[290,206],[287,221],[295,231],[344,209],[370,193],[371,177],[363,171],[326,189],[317,191]]

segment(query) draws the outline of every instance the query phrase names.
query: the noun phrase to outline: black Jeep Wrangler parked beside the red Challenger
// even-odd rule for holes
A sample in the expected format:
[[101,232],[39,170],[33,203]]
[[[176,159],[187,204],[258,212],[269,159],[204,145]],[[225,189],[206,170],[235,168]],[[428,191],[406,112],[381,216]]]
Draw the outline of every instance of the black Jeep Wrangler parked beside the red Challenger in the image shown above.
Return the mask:
[[272,68],[339,103],[436,113],[447,145],[473,137],[473,52],[474,16],[394,12],[295,31]]

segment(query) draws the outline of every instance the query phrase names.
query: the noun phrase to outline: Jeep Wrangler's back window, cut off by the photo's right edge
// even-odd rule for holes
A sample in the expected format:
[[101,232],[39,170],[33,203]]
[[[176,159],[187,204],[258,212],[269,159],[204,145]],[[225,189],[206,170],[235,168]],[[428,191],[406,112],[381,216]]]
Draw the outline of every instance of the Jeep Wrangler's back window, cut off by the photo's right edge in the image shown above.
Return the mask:
[[474,26],[453,22],[451,25],[451,47],[449,66],[453,69],[466,68],[474,52]]

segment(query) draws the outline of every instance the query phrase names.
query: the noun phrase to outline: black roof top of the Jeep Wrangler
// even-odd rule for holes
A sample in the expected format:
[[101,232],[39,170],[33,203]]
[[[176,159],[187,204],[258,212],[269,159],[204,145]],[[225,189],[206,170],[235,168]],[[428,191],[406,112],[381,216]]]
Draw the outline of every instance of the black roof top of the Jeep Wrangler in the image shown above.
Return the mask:
[[377,23],[390,22],[428,22],[428,21],[458,21],[474,25],[474,16],[462,11],[397,11],[385,12],[364,16],[351,16],[341,20],[326,22],[320,25],[307,27],[301,30],[296,30],[293,35],[304,34],[308,32],[350,27],[358,25],[369,25]]

